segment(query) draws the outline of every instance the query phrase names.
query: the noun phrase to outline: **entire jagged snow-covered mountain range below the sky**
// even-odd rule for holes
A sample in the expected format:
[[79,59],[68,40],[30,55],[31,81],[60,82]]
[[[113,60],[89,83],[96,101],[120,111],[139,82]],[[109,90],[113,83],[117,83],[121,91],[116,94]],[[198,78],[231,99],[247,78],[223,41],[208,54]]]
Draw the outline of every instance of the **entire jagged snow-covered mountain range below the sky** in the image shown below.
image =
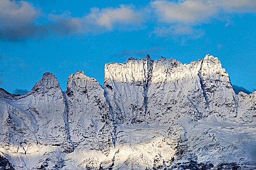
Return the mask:
[[44,73],[24,95],[0,88],[0,123],[17,170],[256,169],[256,92],[236,95],[210,55],[106,64],[103,87],[77,71],[64,92]]

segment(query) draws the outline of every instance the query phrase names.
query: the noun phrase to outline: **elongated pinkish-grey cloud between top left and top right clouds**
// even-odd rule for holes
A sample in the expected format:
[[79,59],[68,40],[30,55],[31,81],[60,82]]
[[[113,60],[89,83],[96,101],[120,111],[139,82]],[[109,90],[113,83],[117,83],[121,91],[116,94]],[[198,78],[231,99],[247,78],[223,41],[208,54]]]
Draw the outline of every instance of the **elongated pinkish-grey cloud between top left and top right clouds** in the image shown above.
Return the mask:
[[51,31],[69,34],[104,33],[114,30],[133,30],[142,27],[143,15],[133,5],[116,8],[91,8],[82,17],[72,17],[69,11],[61,15],[50,14]]

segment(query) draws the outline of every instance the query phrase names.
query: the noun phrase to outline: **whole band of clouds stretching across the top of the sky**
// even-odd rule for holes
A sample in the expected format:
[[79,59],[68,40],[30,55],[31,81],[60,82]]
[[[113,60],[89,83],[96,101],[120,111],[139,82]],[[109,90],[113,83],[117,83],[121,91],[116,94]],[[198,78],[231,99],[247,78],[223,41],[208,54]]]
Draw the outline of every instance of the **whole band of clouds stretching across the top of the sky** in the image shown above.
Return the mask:
[[228,21],[233,13],[256,13],[256,0],[154,0],[142,9],[132,4],[95,7],[80,17],[70,11],[45,14],[24,0],[0,0],[0,39],[132,31],[146,28],[148,21],[158,36],[198,38],[204,34],[198,25],[223,17]]

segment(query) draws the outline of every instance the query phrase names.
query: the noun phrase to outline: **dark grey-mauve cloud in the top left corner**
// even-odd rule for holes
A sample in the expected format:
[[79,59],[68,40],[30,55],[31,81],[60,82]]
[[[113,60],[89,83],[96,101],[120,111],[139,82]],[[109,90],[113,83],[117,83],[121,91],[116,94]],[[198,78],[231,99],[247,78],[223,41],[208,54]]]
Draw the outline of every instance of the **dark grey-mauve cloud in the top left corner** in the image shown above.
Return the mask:
[[0,0],[0,39],[19,40],[35,37],[46,30],[37,25],[40,10],[20,0]]

